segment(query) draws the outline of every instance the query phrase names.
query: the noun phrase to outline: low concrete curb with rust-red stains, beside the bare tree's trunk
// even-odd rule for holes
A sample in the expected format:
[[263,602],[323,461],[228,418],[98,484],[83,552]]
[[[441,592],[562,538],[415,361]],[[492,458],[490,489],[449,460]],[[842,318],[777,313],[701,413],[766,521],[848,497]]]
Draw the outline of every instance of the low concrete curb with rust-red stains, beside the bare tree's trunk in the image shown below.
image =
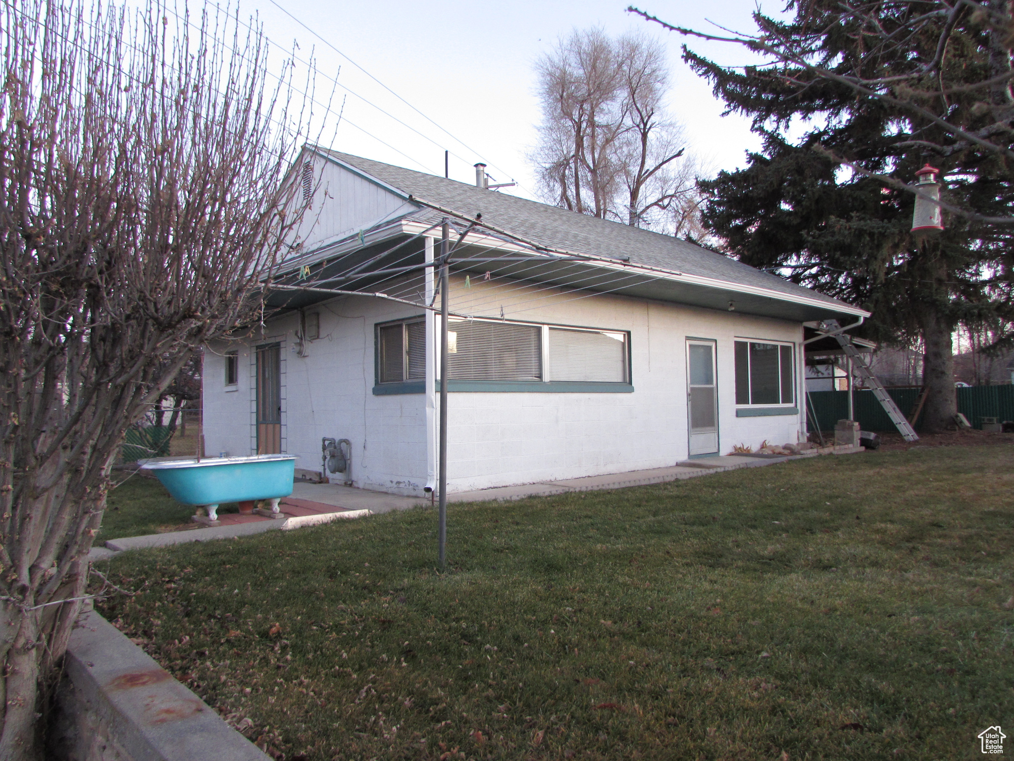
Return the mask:
[[61,707],[77,719],[77,737],[65,743],[80,748],[104,736],[135,761],[270,761],[94,611],[78,619],[64,664],[73,690]]

